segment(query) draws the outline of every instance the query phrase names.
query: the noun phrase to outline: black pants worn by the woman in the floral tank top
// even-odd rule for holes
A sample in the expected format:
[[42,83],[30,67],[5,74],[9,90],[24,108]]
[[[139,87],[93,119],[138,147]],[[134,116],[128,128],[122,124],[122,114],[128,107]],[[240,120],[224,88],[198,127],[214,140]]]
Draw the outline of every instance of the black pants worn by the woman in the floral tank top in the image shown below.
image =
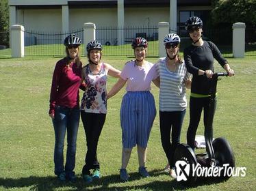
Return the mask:
[[106,114],[86,113],[81,111],[81,120],[83,121],[84,131],[86,132],[86,164],[83,167],[83,175],[90,175],[90,169],[99,169],[97,160],[97,146],[101,130],[105,123]]

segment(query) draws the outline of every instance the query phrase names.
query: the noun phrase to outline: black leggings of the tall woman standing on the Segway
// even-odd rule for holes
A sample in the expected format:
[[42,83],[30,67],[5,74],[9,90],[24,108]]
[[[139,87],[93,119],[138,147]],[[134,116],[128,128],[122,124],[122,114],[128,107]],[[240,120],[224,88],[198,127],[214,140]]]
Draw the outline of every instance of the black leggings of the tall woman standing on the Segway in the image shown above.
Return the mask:
[[[216,102],[217,100],[212,101],[212,105],[210,105],[210,98],[193,98],[190,97],[190,125],[188,126],[187,132],[187,142],[192,149],[194,149],[194,139],[196,136],[196,130],[199,126],[199,121],[201,119],[201,113],[203,111],[203,124],[205,126],[205,137],[208,137],[209,140],[205,140],[206,143],[206,151],[209,153],[209,158],[214,157],[213,147],[212,147],[212,139],[214,136],[213,132],[213,121],[214,121],[214,113],[216,110]],[[210,108],[212,107],[212,108]]]

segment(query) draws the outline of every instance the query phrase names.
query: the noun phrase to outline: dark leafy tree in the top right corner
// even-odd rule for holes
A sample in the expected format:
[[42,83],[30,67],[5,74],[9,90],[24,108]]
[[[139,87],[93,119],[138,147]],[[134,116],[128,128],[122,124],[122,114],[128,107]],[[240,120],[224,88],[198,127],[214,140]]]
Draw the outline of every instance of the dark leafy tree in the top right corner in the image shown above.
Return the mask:
[[213,25],[241,22],[256,26],[256,0],[214,0],[213,7]]

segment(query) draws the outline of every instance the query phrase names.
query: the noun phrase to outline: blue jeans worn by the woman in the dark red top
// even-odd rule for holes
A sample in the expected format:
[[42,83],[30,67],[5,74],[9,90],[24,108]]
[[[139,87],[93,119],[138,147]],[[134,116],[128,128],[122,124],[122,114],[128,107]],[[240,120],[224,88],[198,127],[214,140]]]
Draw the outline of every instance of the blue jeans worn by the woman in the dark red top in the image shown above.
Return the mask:
[[[60,175],[62,172],[73,173],[75,168],[75,152],[77,149],[77,131],[79,127],[79,108],[66,108],[64,106],[55,107],[55,117],[53,119],[53,127],[55,132],[54,147],[54,173]],[[64,168],[64,140],[67,132],[67,150],[66,164]]]

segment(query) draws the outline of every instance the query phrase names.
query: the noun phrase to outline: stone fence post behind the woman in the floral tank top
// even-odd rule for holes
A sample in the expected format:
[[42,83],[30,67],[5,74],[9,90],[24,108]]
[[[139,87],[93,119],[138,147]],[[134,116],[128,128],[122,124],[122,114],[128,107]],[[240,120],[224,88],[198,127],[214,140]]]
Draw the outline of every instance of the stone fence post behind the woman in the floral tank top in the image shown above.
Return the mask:
[[87,55],[86,45],[95,40],[96,26],[94,23],[84,23],[84,55]]

